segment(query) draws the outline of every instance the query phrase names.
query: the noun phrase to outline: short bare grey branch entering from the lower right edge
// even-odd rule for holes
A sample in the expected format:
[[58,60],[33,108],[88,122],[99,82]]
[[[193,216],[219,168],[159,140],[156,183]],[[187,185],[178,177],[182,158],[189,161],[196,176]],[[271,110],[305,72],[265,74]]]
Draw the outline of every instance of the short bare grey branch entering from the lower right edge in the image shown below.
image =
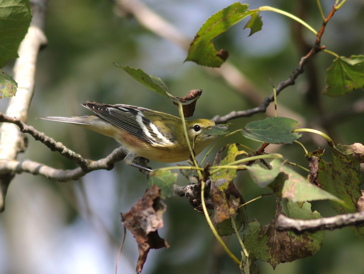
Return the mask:
[[313,220],[299,220],[280,214],[277,218],[277,230],[293,230],[296,232],[316,232],[319,230],[333,230],[345,226],[361,226],[364,224],[364,211],[336,215],[328,218]]

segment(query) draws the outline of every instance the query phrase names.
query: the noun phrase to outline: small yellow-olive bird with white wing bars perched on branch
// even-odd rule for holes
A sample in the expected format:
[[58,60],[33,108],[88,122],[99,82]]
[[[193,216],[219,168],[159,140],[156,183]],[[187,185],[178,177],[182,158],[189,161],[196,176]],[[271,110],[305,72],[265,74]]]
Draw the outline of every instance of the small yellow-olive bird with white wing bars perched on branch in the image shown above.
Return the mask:
[[[90,101],[81,105],[96,115],[39,119],[77,124],[114,138],[126,153],[124,161],[128,165],[137,166],[133,162],[138,156],[163,163],[190,158],[179,117],[130,105],[107,105]],[[216,138],[215,135],[200,134],[213,125],[215,123],[207,119],[186,120],[187,134],[196,155]]]

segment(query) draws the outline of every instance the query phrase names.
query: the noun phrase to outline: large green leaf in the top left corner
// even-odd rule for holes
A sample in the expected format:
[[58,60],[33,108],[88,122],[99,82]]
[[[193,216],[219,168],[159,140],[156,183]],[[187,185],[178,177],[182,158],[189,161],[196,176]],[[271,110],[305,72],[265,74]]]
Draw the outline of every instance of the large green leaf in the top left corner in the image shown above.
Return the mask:
[[18,57],[31,18],[29,0],[0,0],[0,67]]

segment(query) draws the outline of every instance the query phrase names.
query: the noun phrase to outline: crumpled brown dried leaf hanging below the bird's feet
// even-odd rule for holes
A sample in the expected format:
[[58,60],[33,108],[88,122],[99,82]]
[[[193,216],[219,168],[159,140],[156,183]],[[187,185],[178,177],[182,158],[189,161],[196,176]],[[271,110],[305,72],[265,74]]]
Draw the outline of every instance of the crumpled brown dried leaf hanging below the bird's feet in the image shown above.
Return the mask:
[[162,215],[166,205],[162,202],[159,187],[153,185],[147,189],[127,213],[121,213],[123,225],[134,235],[138,243],[139,258],[137,272],[141,272],[151,248],[169,247],[158,235],[158,228],[163,227]]

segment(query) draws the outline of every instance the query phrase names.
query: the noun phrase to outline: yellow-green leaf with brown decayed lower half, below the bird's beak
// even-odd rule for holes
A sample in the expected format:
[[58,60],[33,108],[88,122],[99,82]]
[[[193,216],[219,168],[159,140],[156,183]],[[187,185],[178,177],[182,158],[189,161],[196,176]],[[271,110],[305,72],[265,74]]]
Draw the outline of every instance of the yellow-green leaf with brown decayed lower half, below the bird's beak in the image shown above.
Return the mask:
[[[227,155],[221,160],[221,153],[227,148]],[[239,155],[248,156],[244,150],[239,150],[237,144],[224,146],[218,153],[214,161],[214,166],[227,165],[235,161]],[[236,215],[236,226],[240,229],[242,224],[248,221],[244,204],[244,199],[235,188],[233,178],[236,176],[236,169],[222,169],[210,176],[211,188],[210,196],[214,204],[213,222],[219,235],[226,236],[235,232],[230,217]]]

